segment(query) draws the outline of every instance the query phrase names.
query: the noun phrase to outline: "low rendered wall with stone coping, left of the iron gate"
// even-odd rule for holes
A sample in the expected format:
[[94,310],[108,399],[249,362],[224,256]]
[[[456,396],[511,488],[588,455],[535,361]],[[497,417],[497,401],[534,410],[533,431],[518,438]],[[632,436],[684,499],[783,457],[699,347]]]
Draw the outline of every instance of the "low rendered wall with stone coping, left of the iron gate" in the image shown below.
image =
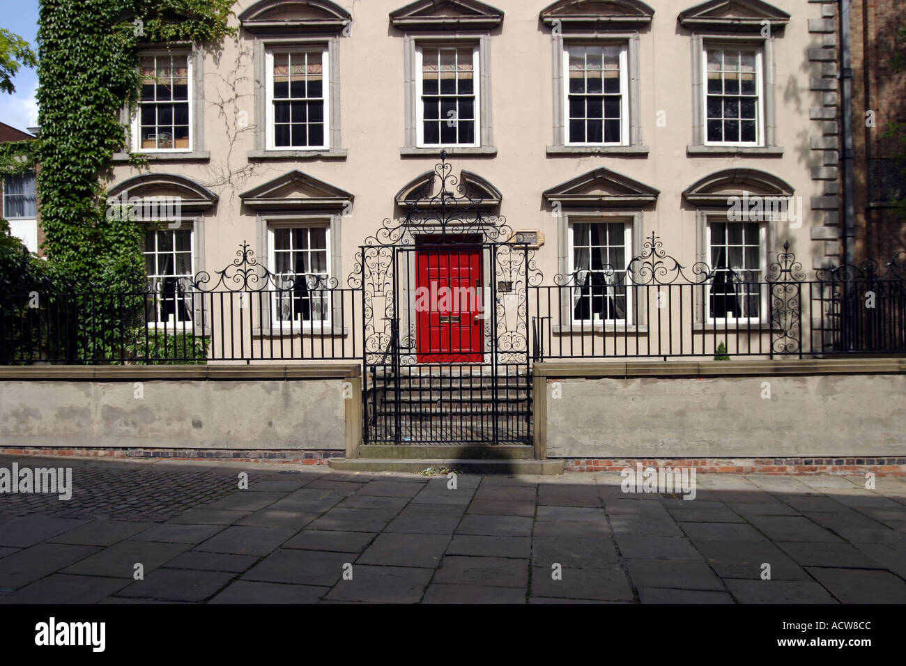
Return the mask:
[[0,368],[0,449],[334,450],[358,365]]

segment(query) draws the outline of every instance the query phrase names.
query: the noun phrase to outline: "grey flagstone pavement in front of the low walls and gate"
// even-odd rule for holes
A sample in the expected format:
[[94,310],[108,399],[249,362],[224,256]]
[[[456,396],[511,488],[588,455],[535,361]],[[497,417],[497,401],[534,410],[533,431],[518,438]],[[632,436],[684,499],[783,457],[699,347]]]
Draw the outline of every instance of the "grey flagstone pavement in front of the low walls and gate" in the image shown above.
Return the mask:
[[902,478],[14,462],[72,499],[0,494],[0,603],[906,603]]

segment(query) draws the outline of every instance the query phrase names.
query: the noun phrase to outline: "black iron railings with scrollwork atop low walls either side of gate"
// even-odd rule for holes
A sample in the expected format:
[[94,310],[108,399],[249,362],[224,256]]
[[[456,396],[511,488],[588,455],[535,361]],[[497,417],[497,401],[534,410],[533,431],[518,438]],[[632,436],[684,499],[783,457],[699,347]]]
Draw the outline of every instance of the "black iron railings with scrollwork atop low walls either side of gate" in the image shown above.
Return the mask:
[[[373,374],[371,387],[399,398],[399,382],[409,381],[400,359],[414,362],[417,347],[412,304],[394,306],[408,314],[405,332],[395,317],[377,325],[371,282],[341,288],[323,276],[275,275],[248,246],[236,254],[213,276],[131,292],[0,293],[0,364],[358,361]],[[487,331],[495,334],[486,333],[477,365],[512,365],[527,376],[526,358],[906,353],[902,252],[883,265],[825,268],[806,280],[788,246],[763,272],[687,269],[651,236],[628,266],[557,275],[554,283],[523,279],[519,294],[491,294]],[[511,323],[505,299],[516,304]]]

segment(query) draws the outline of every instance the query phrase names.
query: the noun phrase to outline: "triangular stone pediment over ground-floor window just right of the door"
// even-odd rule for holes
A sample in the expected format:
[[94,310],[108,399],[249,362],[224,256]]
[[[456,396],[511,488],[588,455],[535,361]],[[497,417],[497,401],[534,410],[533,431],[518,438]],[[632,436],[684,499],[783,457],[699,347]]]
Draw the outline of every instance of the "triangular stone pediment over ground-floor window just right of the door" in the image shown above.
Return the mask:
[[657,200],[660,190],[616,171],[599,167],[545,190],[548,203],[568,207],[645,206]]

